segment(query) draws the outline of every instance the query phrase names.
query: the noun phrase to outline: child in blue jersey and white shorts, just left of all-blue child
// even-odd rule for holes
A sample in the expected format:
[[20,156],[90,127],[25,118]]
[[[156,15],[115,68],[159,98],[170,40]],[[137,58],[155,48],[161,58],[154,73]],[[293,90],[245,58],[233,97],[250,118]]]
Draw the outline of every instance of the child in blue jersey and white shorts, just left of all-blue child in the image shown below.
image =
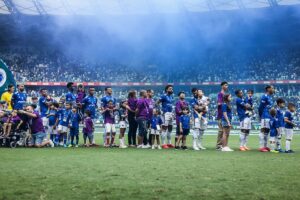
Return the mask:
[[65,108],[61,110],[61,118],[59,119],[59,125],[57,131],[61,139],[63,139],[64,147],[67,147],[67,136],[69,130],[69,121],[71,116],[71,103],[67,102]]

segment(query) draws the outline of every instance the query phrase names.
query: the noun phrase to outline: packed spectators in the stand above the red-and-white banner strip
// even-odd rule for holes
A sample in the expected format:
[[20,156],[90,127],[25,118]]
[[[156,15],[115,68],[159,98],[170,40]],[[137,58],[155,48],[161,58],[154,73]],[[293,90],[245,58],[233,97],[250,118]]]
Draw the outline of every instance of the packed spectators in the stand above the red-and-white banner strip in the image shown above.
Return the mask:
[[18,81],[32,82],[219,82],[297,80],[300,50],[252,52],[248,56],[210,55],[197,64],[124,64],[85,61],[63,54],[28,50],[0,52]]

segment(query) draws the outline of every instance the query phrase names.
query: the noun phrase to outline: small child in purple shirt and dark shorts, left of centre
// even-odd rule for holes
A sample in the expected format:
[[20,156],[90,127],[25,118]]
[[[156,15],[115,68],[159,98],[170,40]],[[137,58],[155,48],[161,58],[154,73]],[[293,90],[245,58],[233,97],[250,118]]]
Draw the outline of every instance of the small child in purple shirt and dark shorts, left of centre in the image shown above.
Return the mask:
[[[83,145],[86,147],[89,147],[93,144],[93,133],[94,133],[94,123],[91,118],[91,112],[89,110],[85,110],[85,117],[84,117],[84,123],[83,123]],[[86,139],[89,139],[89,143],[86,143]]]

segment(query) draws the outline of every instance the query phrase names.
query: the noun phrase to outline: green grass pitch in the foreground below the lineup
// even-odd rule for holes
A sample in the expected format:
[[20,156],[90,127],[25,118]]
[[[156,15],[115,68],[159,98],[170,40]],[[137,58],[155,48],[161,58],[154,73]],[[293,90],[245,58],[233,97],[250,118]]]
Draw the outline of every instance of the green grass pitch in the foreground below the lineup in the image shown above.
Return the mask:
[[0,199],[300,199],[300,136],[295,154],[260,153],[257,135],[249,152],[237,151],[237,135],[234,152],[204,139],[198,152],[1,148]]

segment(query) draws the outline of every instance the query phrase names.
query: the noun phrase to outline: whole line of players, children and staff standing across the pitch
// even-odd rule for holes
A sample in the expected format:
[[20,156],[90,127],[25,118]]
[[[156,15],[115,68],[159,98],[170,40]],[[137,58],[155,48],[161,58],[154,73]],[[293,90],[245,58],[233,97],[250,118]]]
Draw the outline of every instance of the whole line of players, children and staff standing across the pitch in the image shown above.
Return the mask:
[[[192,148],[205,150],[203,136],[207,129],[206,113],[210,99],[201,89],[193,88],[191,101],[186,101],[185,92],[178,93],[175,102],[173,86],[167,85],[165,93],[155,101],[154,91],[131,90],[128,98],[117,102],[111,87],[105,88],[105,96],[100,100],[95,97],[95,88],[89,87],[85,93],[83,85],[67,84],[68,92],[59,101],[48,95],[46,89],[40,90],[40,97],[32,97],[27,102],[27,94],[23,84],[9,85],[1,96],[0,118],[3,124],[1,140],[11,140],[13,130],[28,132],[29,147],[63,146],[78,147],[80,124],[83,124],[83,145],[99,146],[94,138],[96,113],[104,119],[104,147],[152,148],[152,149],[188,149],[187,136],[192,135]],[[253,106],[253,91],[248,90],[246,97],[243,91],[235,91],[235,102],[228,93],[228,83],[221,83],[221,91],[217,96],[218,134],[216,150],[233,151],[228,145],[232,128],[233,106],[240,121],[240,151],[248,151],[248,137],[254,112],[260,118],[259,151],[272,153],[293,153],[291,141],[293,121],[296,107],[283,98],[273,100],[275,89],[272,85],[265,87],[265,94],[260,99],[258,108]],[[139,96],[139,97],[137,97]],[[275,104],[276,102],[276,104]],[[285,110],[285,108],[287,109]],[[172,141],[173,121],[176,121],[175,141]],[[119,145],[116,144],[116,125],[119,127]],[[128,127],[128,146],[125,133]],[[281,140],[285,135],[285,148]]]

